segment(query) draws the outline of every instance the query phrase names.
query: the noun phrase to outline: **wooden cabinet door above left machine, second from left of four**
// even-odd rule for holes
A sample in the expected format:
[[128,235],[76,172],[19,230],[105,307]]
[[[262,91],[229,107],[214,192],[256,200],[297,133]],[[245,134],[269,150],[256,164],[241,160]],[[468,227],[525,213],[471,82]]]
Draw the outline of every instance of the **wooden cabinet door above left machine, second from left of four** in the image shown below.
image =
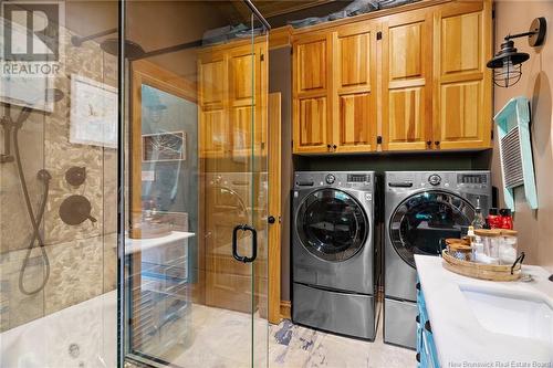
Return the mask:
[[333,145],[337,153],[376,149],[376,32],[371,22],[333,34]]

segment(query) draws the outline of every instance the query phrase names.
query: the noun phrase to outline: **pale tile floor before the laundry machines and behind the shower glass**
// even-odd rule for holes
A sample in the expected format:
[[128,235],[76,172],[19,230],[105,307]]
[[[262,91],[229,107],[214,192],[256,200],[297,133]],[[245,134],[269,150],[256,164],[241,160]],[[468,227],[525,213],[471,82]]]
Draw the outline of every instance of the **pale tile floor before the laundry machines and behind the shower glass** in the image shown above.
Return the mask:
[[[250,367],[251,317],[248,314],[195,305],[190,326],[194,337],[180,350],[185,353],[170,359],[175,366]],[[415,351],[383,343],[382,322],[378,323],[375,343],[316,332],[288,319],[280,325],[270,325],[269,329],[265,320],[257,319],[254,336],[255,367],[416,367]],[[268,355],[264,354],[267,350]]]

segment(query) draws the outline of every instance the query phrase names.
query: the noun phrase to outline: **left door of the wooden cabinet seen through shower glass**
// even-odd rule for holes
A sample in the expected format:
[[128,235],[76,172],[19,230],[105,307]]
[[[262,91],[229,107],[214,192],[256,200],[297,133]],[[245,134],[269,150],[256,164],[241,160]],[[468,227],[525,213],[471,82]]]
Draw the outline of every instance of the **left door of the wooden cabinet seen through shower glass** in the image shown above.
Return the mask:
[[227,61],[221,54],[198,57],[200,157],[221,157],[230,145],[227,120]]

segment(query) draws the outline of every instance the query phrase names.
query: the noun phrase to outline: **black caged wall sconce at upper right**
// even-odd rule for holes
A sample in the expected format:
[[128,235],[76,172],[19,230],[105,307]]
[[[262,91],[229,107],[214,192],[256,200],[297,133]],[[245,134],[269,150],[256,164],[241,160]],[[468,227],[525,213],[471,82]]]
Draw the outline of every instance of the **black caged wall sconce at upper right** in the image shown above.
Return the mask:
[[517,84],[522,75],[522,63],[530,59],[525,52],[517,51],[512,39],[528,36],[528,43],[538,48],[543,44],[546,29],[545,18],[540,17],[532,21],[528,32],[505,35],[501,50],[486,64],[493,70],[493,83],[497,86],[507,88]]

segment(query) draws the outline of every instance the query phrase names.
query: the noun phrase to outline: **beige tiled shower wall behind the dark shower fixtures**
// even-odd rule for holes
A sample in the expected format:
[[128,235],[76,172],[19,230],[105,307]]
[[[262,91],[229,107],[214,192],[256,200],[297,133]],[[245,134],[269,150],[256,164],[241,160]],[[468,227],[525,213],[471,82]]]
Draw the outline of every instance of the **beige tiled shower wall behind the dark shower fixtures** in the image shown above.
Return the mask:
[[[64,53],[54,87],[63,92],[51,114],[33,113],[20,133],[21,156],[34,211],[38,210],[42,183],[40,169],[52,176],[42,224],[43,239],[51,264],[50,278],[43,291],[27,296],[18,277],[27,252],[32,227],[14,162],[0,164],[0,330],[81,303],[116,287],[116,200],[117,150],[71,144],[71,75],[79,74],[109,86],[117,86],[117,57],[101,51],[88,41],[80,48],[71,44],[72,33],[62,30]],[[115,35],[114,35],[115,36]],[[6,108],[0,107],[0,114]],[[17,118],[19,107],[12,107]],[[0,139],[3,139],[3,132]],[[65,181],[73,166],[86,168],[86,181],[79,188]],[[92,203],[92,215],[80,225],[67,225],[59,215],[65,198],[82,194]],[[36,246],[36,243],[35,243]],[[25,272],[29,288],[42,280],[43,263],[38,248],[33,250]]]

